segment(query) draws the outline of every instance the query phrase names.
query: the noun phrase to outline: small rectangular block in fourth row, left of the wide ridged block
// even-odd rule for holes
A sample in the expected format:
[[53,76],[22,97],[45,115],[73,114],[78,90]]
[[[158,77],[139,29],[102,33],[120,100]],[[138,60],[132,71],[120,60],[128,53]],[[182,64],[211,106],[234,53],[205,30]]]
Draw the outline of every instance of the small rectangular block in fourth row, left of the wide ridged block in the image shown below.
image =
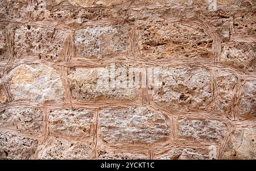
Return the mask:
[[93,134],[93,112],[82,110],[53,110],[49,113],[49,132],[55,135],[90,136]]

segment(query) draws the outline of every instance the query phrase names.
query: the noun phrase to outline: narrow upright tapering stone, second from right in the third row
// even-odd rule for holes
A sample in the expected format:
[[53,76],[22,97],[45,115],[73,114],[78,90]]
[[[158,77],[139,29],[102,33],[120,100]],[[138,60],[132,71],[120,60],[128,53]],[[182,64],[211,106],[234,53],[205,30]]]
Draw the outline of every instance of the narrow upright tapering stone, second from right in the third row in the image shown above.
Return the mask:
[[227,72],[220,72],[217,76],[217,109],[220,112],[230,113],[232,100],[236,93],[237,76]]

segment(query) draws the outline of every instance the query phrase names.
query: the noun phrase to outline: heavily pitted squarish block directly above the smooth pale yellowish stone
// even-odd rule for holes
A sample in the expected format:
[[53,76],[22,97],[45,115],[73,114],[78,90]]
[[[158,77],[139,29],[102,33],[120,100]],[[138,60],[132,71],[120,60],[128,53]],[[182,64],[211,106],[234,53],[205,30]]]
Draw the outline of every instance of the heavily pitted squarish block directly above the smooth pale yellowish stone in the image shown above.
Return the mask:
[[15,30],[16,56],[59,61],[66,37],[60,29],[24,25]]

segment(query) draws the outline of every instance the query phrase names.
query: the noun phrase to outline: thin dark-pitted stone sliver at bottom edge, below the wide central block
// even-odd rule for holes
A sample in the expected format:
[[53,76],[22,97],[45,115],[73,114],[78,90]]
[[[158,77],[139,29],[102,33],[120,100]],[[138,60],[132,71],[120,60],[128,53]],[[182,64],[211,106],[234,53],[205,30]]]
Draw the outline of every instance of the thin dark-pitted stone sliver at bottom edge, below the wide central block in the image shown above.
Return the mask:
[[129,153],[129,152],[118,152],[118,151],[98,151],[99,160],[146,160],[147,155],[142,153]]

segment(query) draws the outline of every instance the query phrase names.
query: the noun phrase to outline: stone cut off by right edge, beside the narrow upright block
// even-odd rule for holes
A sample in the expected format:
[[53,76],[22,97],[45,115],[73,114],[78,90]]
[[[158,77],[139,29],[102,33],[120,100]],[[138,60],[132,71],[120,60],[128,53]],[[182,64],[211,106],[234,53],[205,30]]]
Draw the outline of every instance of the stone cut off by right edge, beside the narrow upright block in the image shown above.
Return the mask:
[[243,86],[239,104],[241,116],[256,116],[256,80],[246,82]]

